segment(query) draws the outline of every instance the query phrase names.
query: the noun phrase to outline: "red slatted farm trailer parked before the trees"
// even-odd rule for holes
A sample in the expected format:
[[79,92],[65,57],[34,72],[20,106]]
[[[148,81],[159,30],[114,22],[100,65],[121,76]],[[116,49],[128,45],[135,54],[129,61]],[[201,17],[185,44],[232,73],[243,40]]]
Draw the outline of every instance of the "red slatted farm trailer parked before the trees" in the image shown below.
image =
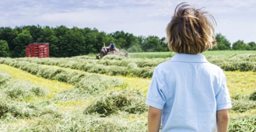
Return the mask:
[[26,57],[49,57],[49,43],[33,43],[26,46]]

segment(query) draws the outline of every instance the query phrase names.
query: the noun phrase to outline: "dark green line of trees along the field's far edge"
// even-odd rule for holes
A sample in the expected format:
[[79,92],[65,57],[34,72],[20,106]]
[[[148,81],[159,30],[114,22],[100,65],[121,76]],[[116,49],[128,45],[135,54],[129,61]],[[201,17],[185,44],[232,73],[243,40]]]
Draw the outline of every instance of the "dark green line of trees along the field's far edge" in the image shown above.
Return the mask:
[[[256,43],[242,40],[232,44],[225,36],[216,34],[218,45],[211,50],[256,50]],[[135,36],[132,33],[116,31],[105,33],[96,28],[42,27],[40,25],[0,28],[0,56],[24,57],[25,46],[34,42],[50,43],[51,57],[70,57],[98,53],[104,43],[114,42],[117,48],[128,52],[169,51],[165,37]]]

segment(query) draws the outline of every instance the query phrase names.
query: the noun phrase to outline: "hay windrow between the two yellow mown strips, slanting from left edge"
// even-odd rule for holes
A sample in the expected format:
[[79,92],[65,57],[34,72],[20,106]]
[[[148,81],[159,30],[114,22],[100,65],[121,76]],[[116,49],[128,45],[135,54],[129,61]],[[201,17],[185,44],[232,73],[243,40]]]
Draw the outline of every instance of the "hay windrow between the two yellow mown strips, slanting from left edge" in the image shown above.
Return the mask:
[[93,75],[83,71],[68,71],[27,61],[16,61],[15,59],[0,59],[0,63],[28,71],[39,77],[74,84],[76,88],[84,89],[89,93],[122,85],[122,81],[119,79]]

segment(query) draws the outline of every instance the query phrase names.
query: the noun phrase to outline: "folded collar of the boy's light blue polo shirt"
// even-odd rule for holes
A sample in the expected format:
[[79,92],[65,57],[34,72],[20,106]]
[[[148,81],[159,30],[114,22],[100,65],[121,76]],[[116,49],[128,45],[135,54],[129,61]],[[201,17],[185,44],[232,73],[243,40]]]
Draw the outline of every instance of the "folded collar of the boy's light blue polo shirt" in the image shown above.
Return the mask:
[[170,61],[179,61],[179,62],[208,62],[204,55],[202,54],[185,54],[177,53],[172,57]]

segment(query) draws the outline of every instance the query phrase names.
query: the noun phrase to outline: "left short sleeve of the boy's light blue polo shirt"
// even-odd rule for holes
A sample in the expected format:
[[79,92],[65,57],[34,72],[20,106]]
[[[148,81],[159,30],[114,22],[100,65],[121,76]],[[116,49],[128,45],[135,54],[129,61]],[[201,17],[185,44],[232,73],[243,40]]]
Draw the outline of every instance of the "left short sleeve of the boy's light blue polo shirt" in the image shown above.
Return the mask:
[[164,84],[160,78],[161,76],[158,74],[158,70],[155,69],[149,86],[146,104],[162,110],[166,100],[162,92]]

